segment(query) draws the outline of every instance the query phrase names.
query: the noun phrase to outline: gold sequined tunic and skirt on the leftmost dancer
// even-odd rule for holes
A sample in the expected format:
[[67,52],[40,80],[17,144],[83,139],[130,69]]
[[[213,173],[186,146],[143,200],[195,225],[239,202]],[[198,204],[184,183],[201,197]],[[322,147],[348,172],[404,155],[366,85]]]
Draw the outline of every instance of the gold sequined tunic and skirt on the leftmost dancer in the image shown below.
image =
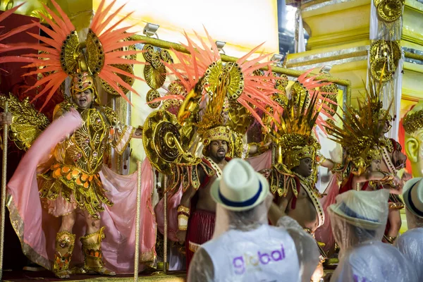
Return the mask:
[[[71,107],[76,108],[67,102],[57,105],[54,118],[59,118]],[[116,113],[106,106],[85,109],[80,114],[82,127],[56,146],[56,162],[49,171],[39,175],[44,178],[39,197],[44,200],[63,197],[98,218],[99,212],[104,211],[103,204],[113,204],[107,199],[99,178],[106,148],[111,145],[121,154],[135,128],[120,123]],[[68,212],[71,211],[65,211]]]

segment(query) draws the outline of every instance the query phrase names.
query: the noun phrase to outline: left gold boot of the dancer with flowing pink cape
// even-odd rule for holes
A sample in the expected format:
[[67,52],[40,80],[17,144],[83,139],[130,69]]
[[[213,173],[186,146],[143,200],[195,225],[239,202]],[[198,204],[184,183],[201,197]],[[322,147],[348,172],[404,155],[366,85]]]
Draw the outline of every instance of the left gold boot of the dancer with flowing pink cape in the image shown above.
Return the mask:
[[69,263],[71,262],[75,234],[62,231],[56,234],[56,251],[54,252],[53,272],[59,278],[69,278]]

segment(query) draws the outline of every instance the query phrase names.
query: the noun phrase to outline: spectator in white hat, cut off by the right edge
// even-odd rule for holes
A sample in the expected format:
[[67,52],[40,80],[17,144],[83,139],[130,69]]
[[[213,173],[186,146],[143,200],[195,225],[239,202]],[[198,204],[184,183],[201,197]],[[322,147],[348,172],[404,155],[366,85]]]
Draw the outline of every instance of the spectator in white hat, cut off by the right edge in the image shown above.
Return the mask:
[[403,198],[408,231],[394,245],[414,264],[419,281],[423,281],[423,178],[408,180]]

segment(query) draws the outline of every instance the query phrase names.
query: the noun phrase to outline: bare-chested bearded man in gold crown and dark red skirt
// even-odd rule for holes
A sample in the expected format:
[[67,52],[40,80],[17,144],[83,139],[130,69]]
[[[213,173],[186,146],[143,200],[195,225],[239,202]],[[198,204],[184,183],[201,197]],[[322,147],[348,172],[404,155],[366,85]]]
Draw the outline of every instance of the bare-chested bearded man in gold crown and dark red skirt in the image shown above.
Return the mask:
[[[204,133],[202,162],[193,166],[197,173],[200,188],[189,185],[184,188],[180,205],[178,206],[178,233],[179,243],[185,242],[187,269],[198,246],[212,239],[214,220],[216,216],[216,202],[210,196],[210,188],[216,178],[220,178],[223,168],[231,159],[226,154],[231,149],[231,130],[225,126],[216,126]],[[259,150],[257,145],[251,145],[249,154]]]

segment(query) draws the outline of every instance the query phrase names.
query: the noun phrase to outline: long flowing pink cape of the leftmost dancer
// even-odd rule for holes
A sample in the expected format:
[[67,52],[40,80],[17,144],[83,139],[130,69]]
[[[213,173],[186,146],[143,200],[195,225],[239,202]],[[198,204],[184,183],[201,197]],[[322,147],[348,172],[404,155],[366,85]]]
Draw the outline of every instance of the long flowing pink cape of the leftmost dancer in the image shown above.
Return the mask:
[[[51,216],[42,208],[38,194],[37,173],[54,161],[51,152],[58,142],[73,133],[82,123],[77,111],[71,111],[51,123],[27,151],[8,183],[8,209],[11,223],[22,245],[22,250],[33,262],[51,269],[54,243],[61,219]],[[144,262],[155,257],[156,222],[152,209],[152,169],[149,163],[142,166],[140,214],[140,270]],[[101,225],[106,226],[102,242],[106,267],[119,274],[131,274],[135,255],[135,214],[137,202],[137,173],[121,176],[106,166],[100,177],[108,190],[113,207],[100,214]],[[73,233],[76,234],[72,264],[83,262],[79,237],[85,235],[85,219],[77,212]]]

